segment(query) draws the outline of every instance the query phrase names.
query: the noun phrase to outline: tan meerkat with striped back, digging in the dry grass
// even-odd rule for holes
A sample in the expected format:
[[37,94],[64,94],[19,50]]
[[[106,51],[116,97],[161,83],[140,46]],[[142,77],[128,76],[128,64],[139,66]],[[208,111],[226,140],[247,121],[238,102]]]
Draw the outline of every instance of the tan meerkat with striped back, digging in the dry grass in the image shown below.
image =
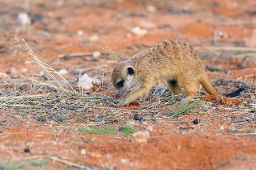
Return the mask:
[[166,80],[175,96],[181,95],[180,85],[183,86],[187,97],[181,102],[195,97],[197,82],[209,95],[216,94],[196,50],[190,44],[174,39],[160,42],[115,65],[112,82],[117,97],[122,96],[134,82],[140,84],[118,106],[128,105],[138,97],[141,97],[141,101],[146,100],[150,88],[158,80]]

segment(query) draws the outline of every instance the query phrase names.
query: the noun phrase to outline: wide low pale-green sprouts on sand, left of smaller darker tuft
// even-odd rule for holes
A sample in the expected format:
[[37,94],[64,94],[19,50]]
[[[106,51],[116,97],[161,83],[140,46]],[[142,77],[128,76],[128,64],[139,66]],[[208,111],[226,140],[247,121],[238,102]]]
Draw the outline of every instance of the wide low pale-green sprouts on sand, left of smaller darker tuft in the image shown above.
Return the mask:
[[93,127],[90,126],[91,129],[87,129],[87,128],[81,128],[79,131],[83,134],[85,133],[90,133],[90,134],[110,134],[113,133],[114,131],[116,131],[114,128],[112,128],[112,126],[109,124],[109,127],[106,127],[104,125],[102,125],[101,127]]

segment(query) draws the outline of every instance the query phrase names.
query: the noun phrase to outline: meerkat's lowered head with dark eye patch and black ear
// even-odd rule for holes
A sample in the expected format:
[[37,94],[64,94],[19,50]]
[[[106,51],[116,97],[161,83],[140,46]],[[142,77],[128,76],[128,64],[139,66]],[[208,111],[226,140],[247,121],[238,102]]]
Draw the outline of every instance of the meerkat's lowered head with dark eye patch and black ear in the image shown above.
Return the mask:
[[117,97],[122,96],[134,81],[134,68],[129,63],[122,61],[115,65],[112,73],[112,83]]

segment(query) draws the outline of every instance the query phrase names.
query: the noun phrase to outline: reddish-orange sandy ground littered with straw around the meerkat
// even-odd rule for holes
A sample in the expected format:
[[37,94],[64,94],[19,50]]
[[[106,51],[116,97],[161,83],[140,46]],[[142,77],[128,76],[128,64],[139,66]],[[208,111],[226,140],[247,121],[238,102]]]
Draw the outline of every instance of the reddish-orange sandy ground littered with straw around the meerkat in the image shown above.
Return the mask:
[[[255,169],[255,6],[250,0],[1,1],[0,169]],[[55,99],[17,35],[40,61],[65,69],[61,74],[79,93],[77,78],[84,73],[99,83],[84,98]],[[196,108],[172,118],[171,101],[154,90],[145,103],[114,107],[121,99],[114,99],[117,60],[109,53],[122,60],[166,39],[197,49],[220,94],[246,90],[203,105],[205,113]],[[30,78],[43,82],[40,88]],[[163,83],[159,89],[165,92]],[[198,90],[191,103],[217,100]],[[42,99],[38,107],[29,95]],[[144,119],[134,120],[135,113]],[[193,124],[196,118],[200,124]],[[136,142],[134,131],[144,130],[150,137]]]

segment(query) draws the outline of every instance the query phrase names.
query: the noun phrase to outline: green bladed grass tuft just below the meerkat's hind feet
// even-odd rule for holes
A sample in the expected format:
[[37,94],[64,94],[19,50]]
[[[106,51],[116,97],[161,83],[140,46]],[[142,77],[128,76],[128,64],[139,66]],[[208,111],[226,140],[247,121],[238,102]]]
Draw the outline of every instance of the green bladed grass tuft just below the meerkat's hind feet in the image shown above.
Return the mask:
[[[201,109],[204,109],[204,111],[208,110],[207,108],[199,106],[202,103],[207,103],[204,100],[197,101],[196,103],[193,103],[191,105],[188,105],[189,101],[187,101],[187,103],[183,102],[179,106],[175,106],[175,105],[167,106],[168,108],[171,109],[171,113],[172,113],[170,120],[174,116],[179,116],[180,114],[186,114],[189,111],[189,109],[201,108]],[[174,108],[172,109],[171,107],[174,107]],[[203,116],[204,116],[204,113],[203,113]]]

